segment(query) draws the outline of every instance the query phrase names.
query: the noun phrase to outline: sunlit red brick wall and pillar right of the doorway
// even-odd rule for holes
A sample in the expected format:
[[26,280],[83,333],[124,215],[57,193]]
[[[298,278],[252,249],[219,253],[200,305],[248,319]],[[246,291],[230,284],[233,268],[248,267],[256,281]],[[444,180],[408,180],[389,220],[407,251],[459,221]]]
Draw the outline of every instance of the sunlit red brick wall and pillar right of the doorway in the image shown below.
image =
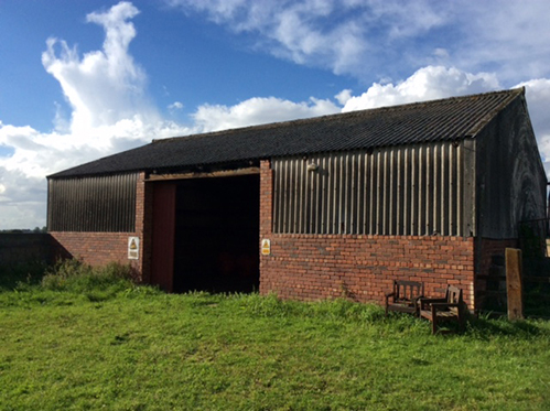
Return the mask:
[[271,188],[272,171],[263,161],[260,239],[271,240],[271,255],[260,259],[262,294],[381,303],[392,280],[401,279],[423,281],[430,296],[440,296],[446,284],[456,284],[473,307],[473,238],[273,234]]

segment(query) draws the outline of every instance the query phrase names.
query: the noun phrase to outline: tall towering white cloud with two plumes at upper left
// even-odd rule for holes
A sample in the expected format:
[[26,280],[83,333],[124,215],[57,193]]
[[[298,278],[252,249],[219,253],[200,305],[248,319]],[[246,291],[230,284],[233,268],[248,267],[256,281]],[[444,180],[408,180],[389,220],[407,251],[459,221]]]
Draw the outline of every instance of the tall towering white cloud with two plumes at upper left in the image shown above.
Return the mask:
[[[155,117],[144,98],[147,76],[128,53],[136,29],[128,20],[139,13],[129,2],[120,2],[104,13],[90,13],[87,21],[105,30],[103,50],[84,54],[65,41],[51,37],[42,64],[60,83],[73,108],[71,130],[77,134],[90,128],[114,125],[139,112]],[[57,56],[56,48],[60,48]]]

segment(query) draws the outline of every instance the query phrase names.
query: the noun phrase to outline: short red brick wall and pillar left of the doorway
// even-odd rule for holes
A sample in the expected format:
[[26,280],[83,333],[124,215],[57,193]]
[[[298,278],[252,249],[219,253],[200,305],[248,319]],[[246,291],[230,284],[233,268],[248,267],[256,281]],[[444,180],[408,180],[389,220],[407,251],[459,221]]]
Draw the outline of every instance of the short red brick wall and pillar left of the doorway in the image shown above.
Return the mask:
[[[136,275],[142,280],[143,262],[143,228],[144,228],[144,173],[138,179],[136,201],[136,231],[134,232],[71,232],[51,231],[56,242],[56,257],[77,258],[90,266],[105,266],[117,261],[130,263]],[[128,259],[128,237],[140,238],[139,260]]]

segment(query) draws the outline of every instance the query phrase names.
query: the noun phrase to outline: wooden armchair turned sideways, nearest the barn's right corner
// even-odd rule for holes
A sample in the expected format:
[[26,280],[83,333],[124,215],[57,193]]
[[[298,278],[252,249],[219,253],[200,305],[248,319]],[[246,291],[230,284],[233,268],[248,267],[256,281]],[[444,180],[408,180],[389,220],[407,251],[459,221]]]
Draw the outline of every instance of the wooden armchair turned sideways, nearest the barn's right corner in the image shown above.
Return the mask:
[[460,329],[464,326],[464,301],[462,290],[447,285],[444,299],[420,299],[420,317],[432,323],[432,334],[438,332],[441,322],[456,321]]

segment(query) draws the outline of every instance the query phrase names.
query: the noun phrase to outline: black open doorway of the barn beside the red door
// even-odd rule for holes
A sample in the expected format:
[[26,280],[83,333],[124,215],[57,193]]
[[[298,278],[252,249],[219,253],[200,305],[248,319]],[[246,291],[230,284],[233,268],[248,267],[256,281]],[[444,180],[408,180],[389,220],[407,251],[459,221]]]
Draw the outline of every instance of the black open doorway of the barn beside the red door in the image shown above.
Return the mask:
[[177,183],[174,292],[258,290],[259,186],[258,174]]

